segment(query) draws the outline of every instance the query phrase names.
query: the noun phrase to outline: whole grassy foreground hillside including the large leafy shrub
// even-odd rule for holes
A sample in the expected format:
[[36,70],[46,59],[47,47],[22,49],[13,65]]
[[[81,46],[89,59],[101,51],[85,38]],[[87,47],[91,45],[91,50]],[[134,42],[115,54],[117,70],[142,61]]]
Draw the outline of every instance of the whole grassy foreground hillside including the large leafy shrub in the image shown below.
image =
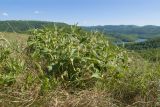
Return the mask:
[[0,39],[0,106],[159,106],[159,65],[101,33],[54,27],[23,39]]

